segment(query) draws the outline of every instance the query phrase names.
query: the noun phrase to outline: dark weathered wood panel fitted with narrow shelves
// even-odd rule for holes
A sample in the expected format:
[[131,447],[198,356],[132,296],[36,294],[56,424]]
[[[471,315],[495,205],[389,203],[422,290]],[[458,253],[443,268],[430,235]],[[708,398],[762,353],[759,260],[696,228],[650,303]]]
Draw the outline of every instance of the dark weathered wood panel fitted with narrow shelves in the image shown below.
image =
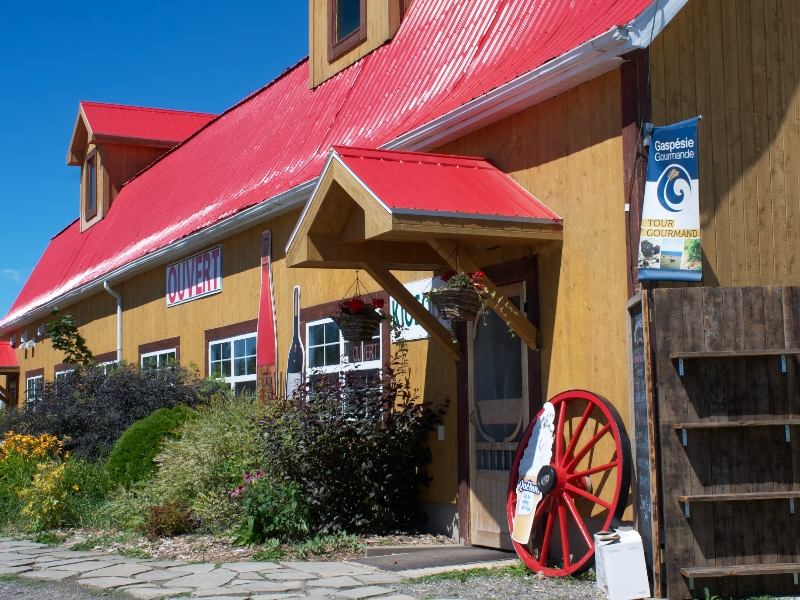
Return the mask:
[[[670,598],[697,597],[706,587],[720,597],[792,593],[792,576],[785,567],[775,567],[783,568],[782,574],[752,574],[752,569],[787,563],[798,563],[800,569],[797,519],[786,495],[800,492],[794,442],[787,441],[783,422],[758,427],[702,424],[785,421],[798,413],[794,356],[786,356],[784,371],[779,353],[746,355],[798,348],[797,294],[798,288],[789,287],[654,291]],[[742,355],[719,355],[737,351]],[[678,359],[670,354],[686,352],[698,354],[682,359],[681,376]],[[712,354],[703,357],[703,352]],[[682,432],[678,423],[693,427]],[[795,425],[789,430],[791,439],[798,435]],[[766,496],[747,496],[753,493]],[[726,497],[713,501],[720,495]],[[687,516],[679,500],[687,496],[712,501],[689,498]],[[744,566],[750,575],[709,576],[710,568]],[[681,569],[698,573],[694,589]]]

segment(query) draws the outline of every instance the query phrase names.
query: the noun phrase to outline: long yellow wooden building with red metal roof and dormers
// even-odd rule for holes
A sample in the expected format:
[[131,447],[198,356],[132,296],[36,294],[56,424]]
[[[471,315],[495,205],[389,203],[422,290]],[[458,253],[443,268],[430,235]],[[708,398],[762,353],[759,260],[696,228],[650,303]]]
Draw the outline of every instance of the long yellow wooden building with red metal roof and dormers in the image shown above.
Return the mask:
[[[800,8],[792,0],[310,0],[310,15],[309,58],[219,116],[164,111],[148,121],[130,115],[152,109],[81,105],[68,154],[83,173],[79,218],[53,238],[0,321],[19,363],[18,376],[0,366],[10,371],[4,389],[17,381],[22,403],[43,378],[70,368],[42,335],[56,305],[75,316],[98,361],[173,357],[237,390],[255,389],[249,365],[264,331],[265,254],[281,376],[298,288],[306,373],[380,369],[392,348],[386,328],[358,348],[326,328],[358,269],[370,292],[391,297],[419,327],[408,347],[422,397],[452,400],[430,440],[430,526],[467,544],[511,548],[506,497],[520,424],[545,400],[582,389],[615,407],[633,438],[626,307],[643,299],[655,308],[647,311],[655,352],[663,298],[689,302],[686,284],[637,280],[645,123],[703,116],[700,285],[800,284]],[[431,175],[409,176],[413,168]],[[445,175],[467,168],[485,171],[474,184],[485,186],[482,200],[478,188]],[[438,183],[427,189],[427,180]],[[528,201],[505,205],[508,186]],[[453,344],[415,299],[454,257],[517,304],[517,337],[489,315],[487,327],[459,327]],[[697,293],[700,304],[684,314],[710,310],[704,299],[716,292]],[[771,305],[758,306],[763,321]],[[345,358],[326,360],[327,347]],[[791,587],[794,534],[782,554],[756,541],[715,546],[724,536],[714,532],[732,514],[725,508],[694,543],[700,526],[684,516],[673,480],[658,486],[662,470],[692,472],[690,463],[675,472],[659,462],[678,452],[663,427],[692,418],[664,420],[672,414],[665,402],[687,410],[683,392],[667,400],[662,389],[677,385],[665,372],[671,360],[658,354],[648,373],[662,424],[660,438],[652,431],[655,593],[663,585],[683,598],[701,585],[730,585],[719,577],[731,565],[751,568],[734,578],[745,581],[742,590],[752,581]],[[795,472],[796,453],[785,460]],[[602,473],[592,482],[608,501]],[[800,491],[800,481],[781,482]],[[681,497],[721,484],[702,485]],[[743,502],[759,514],[757,500]],[[634,506],[623,515],[629,524],[641,518]],[[588,510],[599,523],[606,509]],[[676,537],[671,527],[681,519]],[[759,567],[769,564],[784,567]],[[706,571],[691,570],[700,566]]]

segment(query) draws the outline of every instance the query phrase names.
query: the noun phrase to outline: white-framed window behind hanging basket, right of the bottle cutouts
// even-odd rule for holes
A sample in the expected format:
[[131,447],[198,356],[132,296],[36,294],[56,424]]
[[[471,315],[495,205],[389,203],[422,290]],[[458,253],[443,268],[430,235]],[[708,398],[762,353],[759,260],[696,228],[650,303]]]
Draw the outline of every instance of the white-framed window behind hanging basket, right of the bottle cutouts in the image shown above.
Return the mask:
[[306,344],[311,379],[327,373],[353,371],[372,378],[381,370],[381,329],[369,342],[346,342],[331,319],[321,319],[306,325]]

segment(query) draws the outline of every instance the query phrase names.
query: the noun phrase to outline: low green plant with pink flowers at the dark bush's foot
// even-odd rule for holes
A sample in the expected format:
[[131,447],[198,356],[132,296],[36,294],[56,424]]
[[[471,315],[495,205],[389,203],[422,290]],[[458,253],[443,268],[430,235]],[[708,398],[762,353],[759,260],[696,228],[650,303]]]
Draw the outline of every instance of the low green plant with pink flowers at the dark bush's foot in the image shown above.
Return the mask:
[[[268,539],[296,540],[308,534],[308,506],[299,483],[272,482],[245,474],[247,487],[231,492],[245,496],[245,520],[236,532],[240,544],[261,544]],[[235,496],[234,496],[235,497]]]

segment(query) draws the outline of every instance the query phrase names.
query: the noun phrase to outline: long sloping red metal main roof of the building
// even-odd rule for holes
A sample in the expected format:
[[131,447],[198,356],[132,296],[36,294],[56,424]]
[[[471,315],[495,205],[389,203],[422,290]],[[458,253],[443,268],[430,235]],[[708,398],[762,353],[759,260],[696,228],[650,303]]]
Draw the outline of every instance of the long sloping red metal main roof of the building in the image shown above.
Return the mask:
[[393,40],[311,90],[308,61],[54,238],[0,326],[317,176],[335,144],[378,148],[612,27],[651,0],[415,0]]

